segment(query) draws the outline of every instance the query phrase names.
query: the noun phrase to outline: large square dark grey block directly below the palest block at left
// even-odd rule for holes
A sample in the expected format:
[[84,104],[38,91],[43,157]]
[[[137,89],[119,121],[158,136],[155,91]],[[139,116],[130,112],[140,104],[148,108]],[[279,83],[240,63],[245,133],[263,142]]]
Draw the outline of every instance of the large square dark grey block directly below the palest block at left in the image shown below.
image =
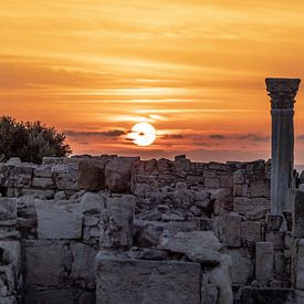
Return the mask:
[[27,241],[24,243],[28,285],[54,286],[62,282],[64,242]]

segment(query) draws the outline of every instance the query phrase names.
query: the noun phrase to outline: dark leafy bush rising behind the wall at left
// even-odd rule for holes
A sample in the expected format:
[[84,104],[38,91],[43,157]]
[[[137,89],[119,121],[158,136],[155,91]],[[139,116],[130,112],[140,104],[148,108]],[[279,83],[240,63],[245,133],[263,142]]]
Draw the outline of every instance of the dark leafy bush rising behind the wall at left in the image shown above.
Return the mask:
[[44,156],[67,156],[72,153],[65,135],[40,122],[19,123],[0,117],[0,161],[20,157],[22,161],[41,164]]

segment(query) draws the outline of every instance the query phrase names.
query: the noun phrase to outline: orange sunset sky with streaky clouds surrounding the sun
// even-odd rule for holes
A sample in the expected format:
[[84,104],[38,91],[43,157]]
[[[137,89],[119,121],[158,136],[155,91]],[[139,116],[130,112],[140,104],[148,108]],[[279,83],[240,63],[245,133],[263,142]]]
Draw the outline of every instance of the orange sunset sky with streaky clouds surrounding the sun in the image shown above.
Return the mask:
[[304,1],[1,0],[0,45],[0,115],[56,126],[74,154],[266,159],[264,78],[304,80]]

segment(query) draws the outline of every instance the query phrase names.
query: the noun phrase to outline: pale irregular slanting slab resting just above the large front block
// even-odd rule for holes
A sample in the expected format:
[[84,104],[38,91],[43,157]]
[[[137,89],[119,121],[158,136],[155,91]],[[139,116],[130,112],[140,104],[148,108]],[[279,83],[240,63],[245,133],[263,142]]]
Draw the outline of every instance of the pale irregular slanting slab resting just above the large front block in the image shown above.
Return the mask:
[[158,248],[182,253],[190,261],[217,264],[221,259],[219,250],[222,245],[212,231],[190,231],[161,235]]

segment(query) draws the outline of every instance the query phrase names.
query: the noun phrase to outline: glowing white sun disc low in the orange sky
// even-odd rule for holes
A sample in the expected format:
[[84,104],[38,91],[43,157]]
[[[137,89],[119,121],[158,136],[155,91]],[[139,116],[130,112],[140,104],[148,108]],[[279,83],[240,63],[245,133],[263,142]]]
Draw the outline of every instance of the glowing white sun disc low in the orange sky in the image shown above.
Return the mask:
[[156,139],[155,127],[147,123],[139,123],[133,126],[129,138],[137,146],[150,146]]

